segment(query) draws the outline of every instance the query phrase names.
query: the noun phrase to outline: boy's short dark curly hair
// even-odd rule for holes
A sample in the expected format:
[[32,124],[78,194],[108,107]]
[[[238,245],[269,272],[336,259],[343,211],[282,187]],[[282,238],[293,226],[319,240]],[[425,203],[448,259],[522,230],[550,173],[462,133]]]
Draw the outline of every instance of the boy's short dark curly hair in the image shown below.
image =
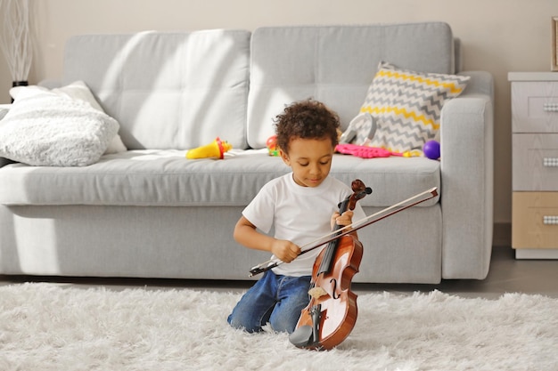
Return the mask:
[[320,101],[296,101],[277,115],[274,123],[277,146],[285,153],[290,141],[297,138],[330,138],[333,147],[338,144],[339,116]]

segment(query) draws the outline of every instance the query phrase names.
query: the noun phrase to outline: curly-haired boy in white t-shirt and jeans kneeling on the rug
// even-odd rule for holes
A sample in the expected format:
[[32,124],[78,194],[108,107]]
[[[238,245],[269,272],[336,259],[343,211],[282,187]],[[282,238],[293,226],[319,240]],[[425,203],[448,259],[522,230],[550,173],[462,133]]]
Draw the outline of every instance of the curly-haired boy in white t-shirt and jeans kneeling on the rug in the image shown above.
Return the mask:
[[[277,145],[292,172],[262,187],[242,211],[234,239],[287,264],[267,270],[242,296],[228,317],[231,326],[252,333],[269,322],[275,331],[292,333],[308,305],[312,267],[321,251],[299,256],[300,246],[330,232],[334,223],[349,225],[353,214],[356,220],[365,217],[358,204],[354,212],[335,212],[352,193],[348,185],[328,176],[339,126],[337,114],[319,101],[295,102],[275,117]],[[275,237],[258,231],[267,233],[272,226]]]

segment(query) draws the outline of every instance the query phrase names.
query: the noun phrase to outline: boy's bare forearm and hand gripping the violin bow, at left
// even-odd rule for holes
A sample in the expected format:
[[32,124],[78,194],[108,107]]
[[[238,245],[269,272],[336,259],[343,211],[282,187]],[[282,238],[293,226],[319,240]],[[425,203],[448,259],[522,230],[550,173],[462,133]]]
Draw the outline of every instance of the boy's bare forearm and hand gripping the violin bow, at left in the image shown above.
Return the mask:
[[255,250],[268,251],[283,262],[292,262],[300,254],[299,246],[291,241],[259,233],[256,226],[244,216],[236,222],[233,236],[239,244]]

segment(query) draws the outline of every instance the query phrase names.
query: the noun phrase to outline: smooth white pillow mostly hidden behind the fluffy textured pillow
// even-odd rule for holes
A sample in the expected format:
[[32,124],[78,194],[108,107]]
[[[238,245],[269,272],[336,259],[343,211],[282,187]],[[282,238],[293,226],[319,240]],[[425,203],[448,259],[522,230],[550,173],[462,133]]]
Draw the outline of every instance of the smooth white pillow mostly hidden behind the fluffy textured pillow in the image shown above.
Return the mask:
[[[101,112],[104,112],[101,105],[97,102],[94,98],[93,93],[89,87],[83,81],[75,81],[70,85],[54,88],[52,90],[48,90],[45,87],[37,86],[37,85],[30,85],[30,86],[15,86],[10,89],[10,95],[12,96],[13,100],[22,99],[25,97],[34,96],[37,94],[51,92],[58,95],[62,95],[64,97],[68,97],[71,99],[85,101],[91,105],[94,109],[98,109]],[[126,146],[122,142],[120,135],[117,133],[109,144],[109,147],[104,152],[105,155],[111,153],[119,153],[127,151]]]

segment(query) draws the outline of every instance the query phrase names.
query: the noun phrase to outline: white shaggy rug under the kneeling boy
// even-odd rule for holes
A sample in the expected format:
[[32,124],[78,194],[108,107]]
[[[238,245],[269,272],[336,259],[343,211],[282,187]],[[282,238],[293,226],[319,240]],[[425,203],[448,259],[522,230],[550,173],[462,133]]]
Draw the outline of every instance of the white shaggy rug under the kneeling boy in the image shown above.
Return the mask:
[[361,294],[332,351],[226,324],[240,294],[0,286],[0,370],[557,370],[558,300]]

